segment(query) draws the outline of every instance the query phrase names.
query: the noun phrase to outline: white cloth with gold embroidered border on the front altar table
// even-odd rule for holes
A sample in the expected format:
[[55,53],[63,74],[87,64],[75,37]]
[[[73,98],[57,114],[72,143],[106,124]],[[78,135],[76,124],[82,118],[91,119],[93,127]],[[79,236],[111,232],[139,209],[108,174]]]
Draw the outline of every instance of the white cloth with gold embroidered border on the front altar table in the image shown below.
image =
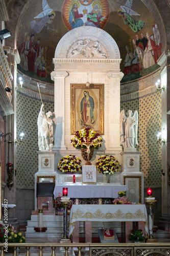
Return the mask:
[[74,204],[69,217],[69,237],[76,221],[144,221],[148,233],[148,215],[144,204]]

